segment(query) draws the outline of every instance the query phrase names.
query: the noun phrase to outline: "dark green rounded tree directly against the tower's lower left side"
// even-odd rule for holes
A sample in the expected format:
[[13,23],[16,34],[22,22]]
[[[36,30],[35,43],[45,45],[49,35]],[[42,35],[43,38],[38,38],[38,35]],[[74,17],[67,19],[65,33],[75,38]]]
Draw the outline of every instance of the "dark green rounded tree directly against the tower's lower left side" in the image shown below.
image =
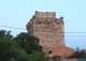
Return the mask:
[[18,45],[28,54],[32,54],[33,51],[42,51],[42,46],[39,45],[39,39],[37,36],[22,32],[14,37],[14,41],[16,41]]

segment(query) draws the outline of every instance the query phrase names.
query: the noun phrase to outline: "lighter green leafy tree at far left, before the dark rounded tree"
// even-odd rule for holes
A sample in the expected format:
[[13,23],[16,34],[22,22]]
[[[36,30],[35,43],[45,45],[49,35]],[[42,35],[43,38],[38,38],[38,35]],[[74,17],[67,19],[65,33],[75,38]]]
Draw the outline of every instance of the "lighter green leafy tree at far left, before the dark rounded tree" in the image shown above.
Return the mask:
[[9,61],[12,58],[27,61],[28,54],[13,41],[10,31],[0,30],[0,61]]

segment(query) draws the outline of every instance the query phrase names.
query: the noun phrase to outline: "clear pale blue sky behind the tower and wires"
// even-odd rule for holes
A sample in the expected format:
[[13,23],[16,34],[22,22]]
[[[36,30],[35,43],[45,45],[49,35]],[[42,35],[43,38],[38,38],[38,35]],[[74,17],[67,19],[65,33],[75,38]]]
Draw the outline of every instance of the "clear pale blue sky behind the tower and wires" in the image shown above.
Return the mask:
[[[0,26],[26,29],[35,11],[56,12],[57,18],[63,16],[64,32],[86,32],[86,0],[0,0]],[[0,27],[0,30],[2,29],[11,30],[13,35],[26,32],[22,29]],[[86,36],[82,36],[86,33],[64,34],[67,46],[86,48]]]

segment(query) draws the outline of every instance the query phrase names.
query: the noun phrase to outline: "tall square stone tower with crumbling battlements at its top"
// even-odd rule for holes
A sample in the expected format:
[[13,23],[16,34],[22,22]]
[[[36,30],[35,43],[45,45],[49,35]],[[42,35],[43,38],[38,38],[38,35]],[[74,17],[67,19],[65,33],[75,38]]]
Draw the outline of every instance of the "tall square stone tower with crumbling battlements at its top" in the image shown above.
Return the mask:
[[35,11],[26,28],[29,34],[40,39],[45,52],[64,45],[63,17],[56,18],[55,12]]

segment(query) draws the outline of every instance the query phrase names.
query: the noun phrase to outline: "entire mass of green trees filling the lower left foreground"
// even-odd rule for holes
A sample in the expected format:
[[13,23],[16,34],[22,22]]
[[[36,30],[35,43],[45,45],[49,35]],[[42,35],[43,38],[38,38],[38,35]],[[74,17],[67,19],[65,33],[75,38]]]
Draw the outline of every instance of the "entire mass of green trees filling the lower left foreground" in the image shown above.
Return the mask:
[[25,32],[14,37],[10,31],[0,30],[0,61],[48,61],[44,56],[38,37]]

